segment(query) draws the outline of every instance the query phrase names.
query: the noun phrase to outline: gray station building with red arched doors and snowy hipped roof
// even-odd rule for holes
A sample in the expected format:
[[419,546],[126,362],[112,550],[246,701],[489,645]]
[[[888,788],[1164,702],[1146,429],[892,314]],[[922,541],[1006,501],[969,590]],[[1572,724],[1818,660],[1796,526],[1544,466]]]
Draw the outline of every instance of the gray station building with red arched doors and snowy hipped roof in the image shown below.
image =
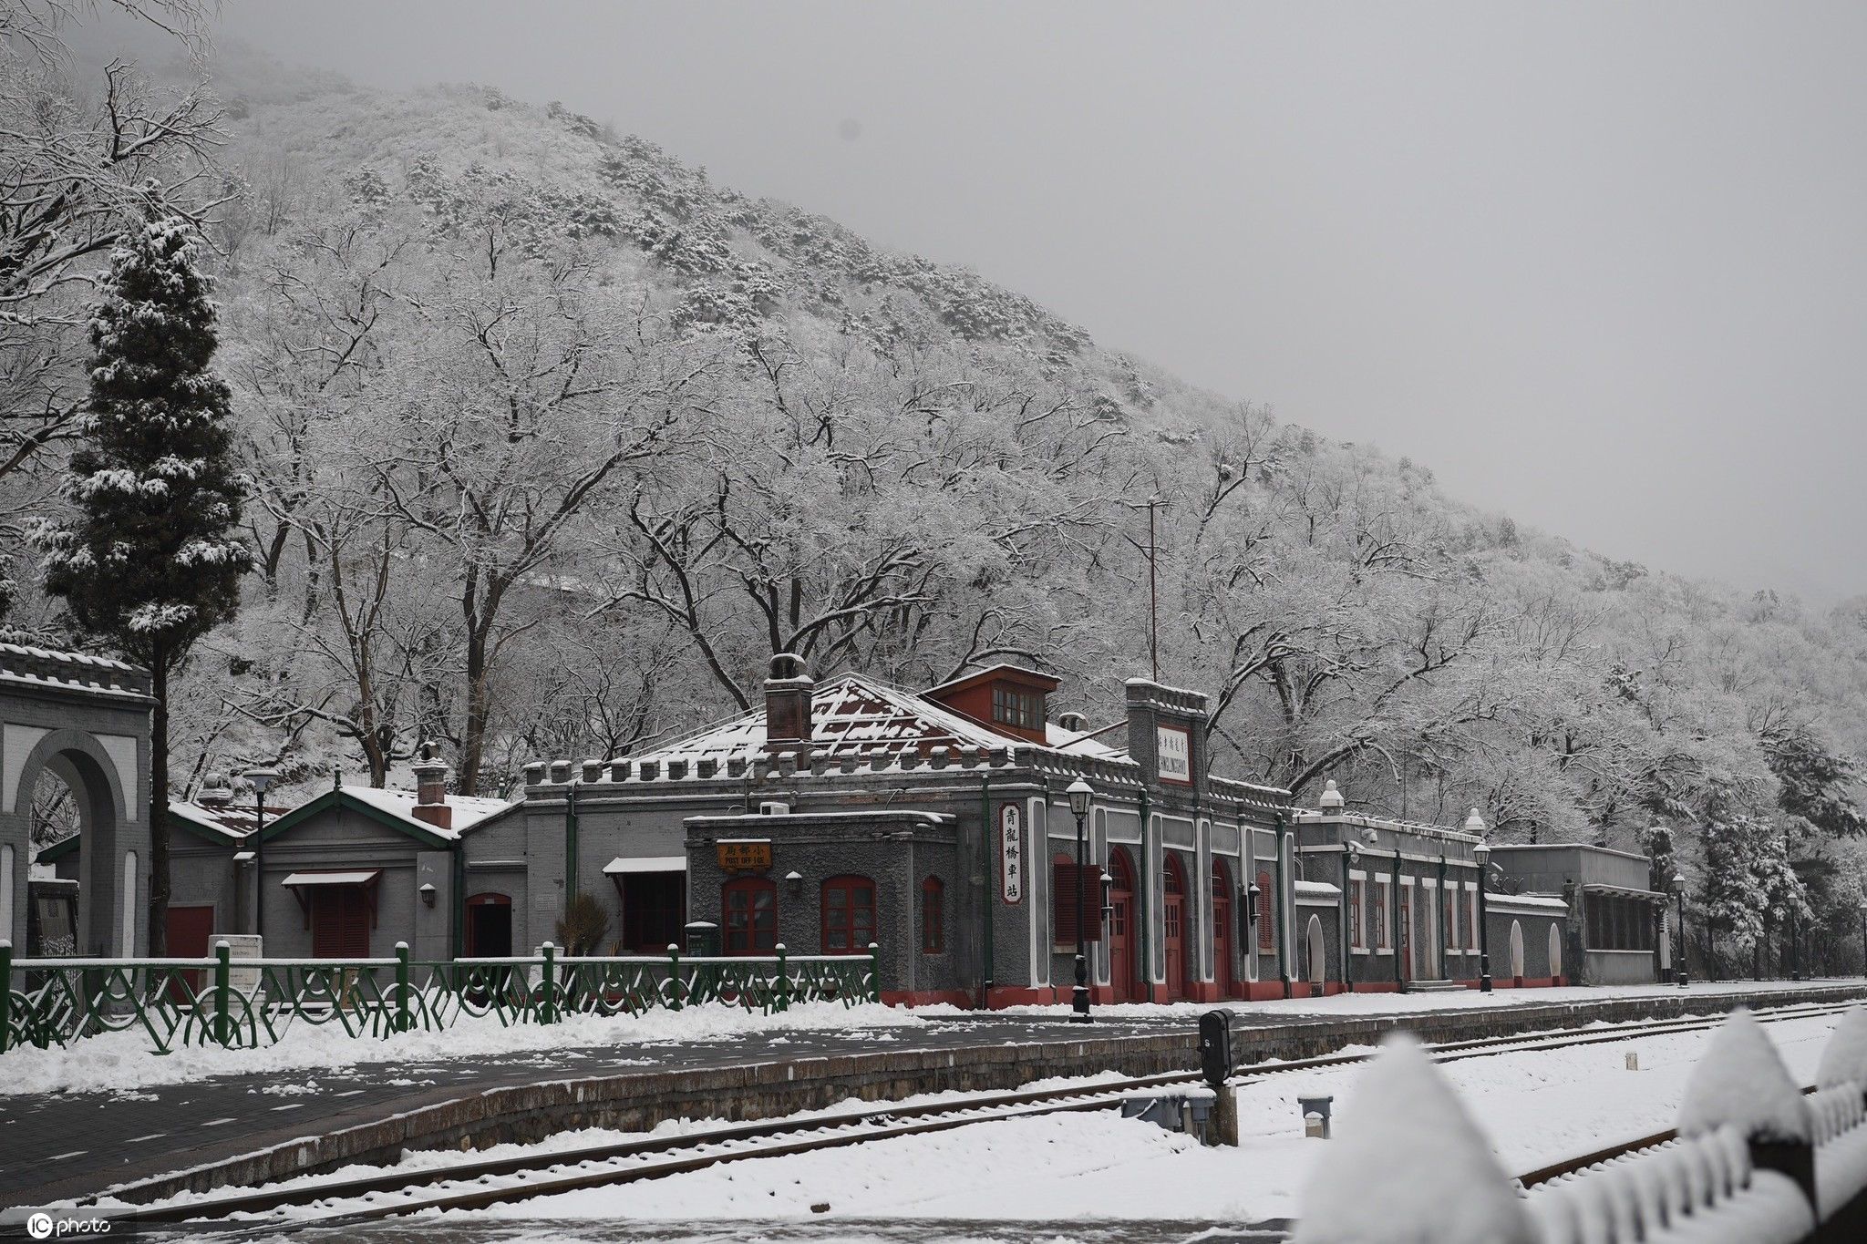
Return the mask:
[[[1206,698],[1126,683],[1120,722],[993,666],[928,690],[773,662],[764,705],[653,752],[526,774],[534,895],[588,892],[624,953],[866,953],[896,1002],[1066,1002],[1081,919],[1109,1002],[1466,988],[1479,854],[1212,772]],[[1494,865],[1495,871],[1495,865]],[[1568,903],[1488,895],[1499,987],[1565,981]],[[528,944],[558,903],[534,903]],[[1346,953],[1344,953],[1346,947]]]

